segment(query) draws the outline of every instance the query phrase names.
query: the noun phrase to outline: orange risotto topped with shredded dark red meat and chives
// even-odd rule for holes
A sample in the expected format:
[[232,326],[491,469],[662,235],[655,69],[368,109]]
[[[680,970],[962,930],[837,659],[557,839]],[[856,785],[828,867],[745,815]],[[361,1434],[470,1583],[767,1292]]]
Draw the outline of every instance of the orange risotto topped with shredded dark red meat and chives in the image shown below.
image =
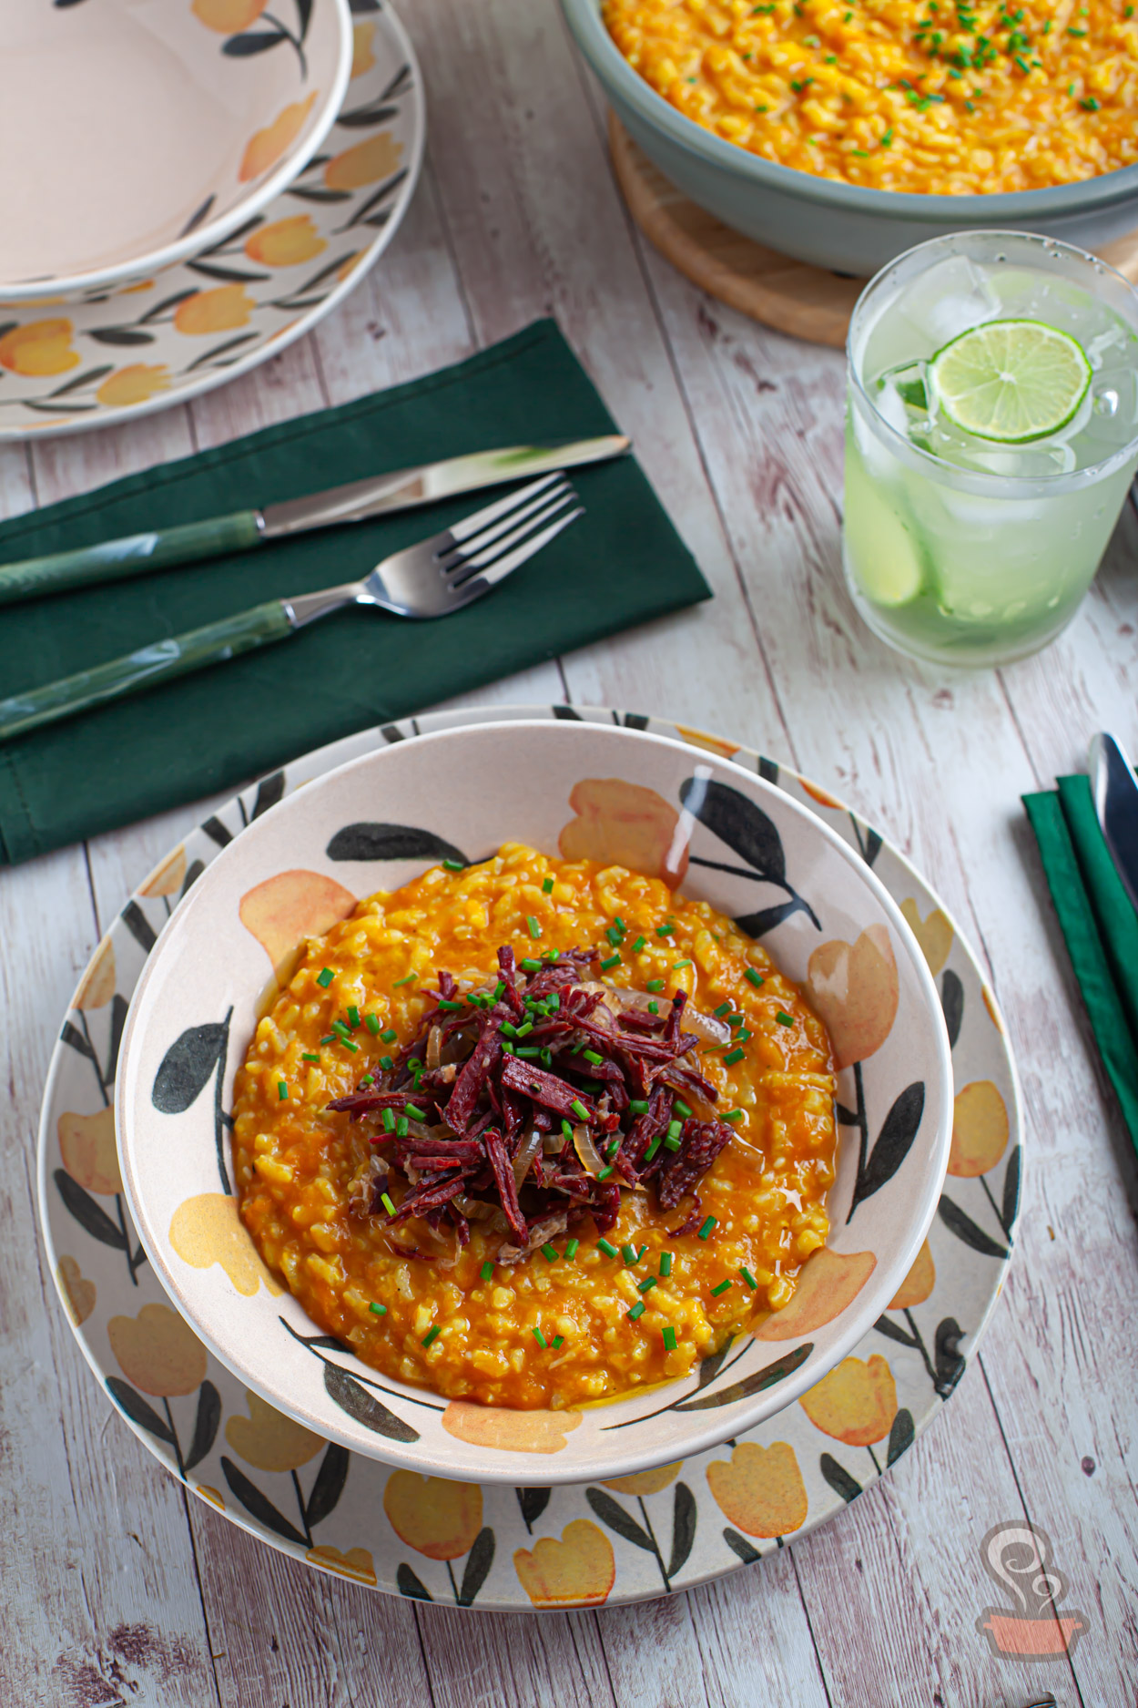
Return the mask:
[[826,1028],[732,921],[507,844],[304,945],[237,1074],[241,1214],[387,1377],[577,1406],[788,1303],[833,1097]]

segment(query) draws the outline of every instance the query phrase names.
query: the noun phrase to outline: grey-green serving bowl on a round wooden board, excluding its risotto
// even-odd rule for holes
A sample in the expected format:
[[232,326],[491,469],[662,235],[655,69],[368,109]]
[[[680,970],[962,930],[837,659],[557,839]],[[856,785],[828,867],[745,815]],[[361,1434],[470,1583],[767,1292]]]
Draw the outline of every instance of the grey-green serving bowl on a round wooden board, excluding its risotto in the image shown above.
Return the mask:
[[659,96],[609,36],[601,0],[561,0],[561,7],[613,111],[648,159],[700,207],[780,254],[868,277],[904,249],[952,231],[1034,231],[1102,249],[1138,227],[1138,166],[1053,190],[923,196],[763,161]]

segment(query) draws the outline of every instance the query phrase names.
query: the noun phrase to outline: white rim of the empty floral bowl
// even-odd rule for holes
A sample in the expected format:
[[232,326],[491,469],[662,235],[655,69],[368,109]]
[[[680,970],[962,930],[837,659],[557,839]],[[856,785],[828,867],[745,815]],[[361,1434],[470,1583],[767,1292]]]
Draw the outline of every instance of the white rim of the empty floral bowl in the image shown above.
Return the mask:
[[345,94],[348,92],[353,58],[351,5],[350,0],[322,0],[322,3],[331,5],[340,20],[336,70],[328,89],[328,96],[319,108],[319,116],[309,137],[299,149],[288,149],[285,152],[280,166],[270,173],[258,190],[247,196],[241,196],[227,214],[220,214],[217,219],[206,220],[203,225],[195,225],[193,231],[186,232],[186,236],[162,244],[160,249],[145,249],[142,254],[130,256],[126,261],[111,261],[106,266],[89,268],[84,273],[51,273],[46,278],[38,278],[31,284],[22,280],[19,284],[9,284],[0,277],[0,306],[36,302],[44,295],[73,297],[85,290],[97,290],[104,285],[123,284],[136,273],[160,273],[167,266],[184,261],[188,254],[198,254],[201,249],[208,249],[212,244],[229,237],[239,225],[242,225],[254,214],[259,214],[263,207],[278,196],[293,181],[293,178],[304,171],[319,145],[324,142],[340,116]]

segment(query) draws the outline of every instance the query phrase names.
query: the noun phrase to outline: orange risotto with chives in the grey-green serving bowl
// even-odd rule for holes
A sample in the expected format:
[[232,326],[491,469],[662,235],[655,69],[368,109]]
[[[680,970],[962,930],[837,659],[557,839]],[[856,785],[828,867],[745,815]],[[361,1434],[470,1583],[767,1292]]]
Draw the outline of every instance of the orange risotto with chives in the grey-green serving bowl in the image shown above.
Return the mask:
[[624,58],[764,161],[874,190],[1042,190],[1138,161],[1129,0],[604,0]]

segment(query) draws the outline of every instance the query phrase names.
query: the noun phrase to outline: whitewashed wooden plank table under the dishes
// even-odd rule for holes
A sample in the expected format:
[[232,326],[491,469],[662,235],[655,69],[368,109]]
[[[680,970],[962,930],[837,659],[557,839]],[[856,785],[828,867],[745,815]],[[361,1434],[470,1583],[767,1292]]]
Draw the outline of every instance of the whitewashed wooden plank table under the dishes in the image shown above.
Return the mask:
[[[0,1703],[1019,1708],[1138,1699],[1135,1155],[1049,912],[1022,791],[1138,741],[1138,519],[1075,625],[1002,673],[909,666],[839,574],[836,352],[701,297],[613,186],[604,111],[554,0],[404,0],[428,167],[394,246],[322,328],[133,429],[5,447],[14,514],[421,374],[553,313],[715,589],[696,611],[486,690],[660,711],[783,757],[880,825],[973,936],[1010,1023],[1029,1173],[1017,1257],[947,1414],[827,1527],[628,1611],[461,1614],[270,1553],[188,1503],[90,1378],[36,1237],[32,1136],[60,1015],[201,804],[0,871]],[[1073,1660],[995,1660],[979,1541],[1051,1535]]]

